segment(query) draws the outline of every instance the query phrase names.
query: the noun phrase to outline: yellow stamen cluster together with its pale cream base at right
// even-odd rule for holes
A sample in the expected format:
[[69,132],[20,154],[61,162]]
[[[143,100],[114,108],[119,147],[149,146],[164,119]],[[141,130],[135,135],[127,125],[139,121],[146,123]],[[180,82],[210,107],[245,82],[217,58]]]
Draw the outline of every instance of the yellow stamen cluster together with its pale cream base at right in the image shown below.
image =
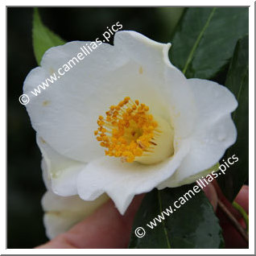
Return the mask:
[[173,154],[173,130],[162,118],[153,117],[149,107],[125,97],[99,116],[94,134],[105,155],[122,162],[158,163]]

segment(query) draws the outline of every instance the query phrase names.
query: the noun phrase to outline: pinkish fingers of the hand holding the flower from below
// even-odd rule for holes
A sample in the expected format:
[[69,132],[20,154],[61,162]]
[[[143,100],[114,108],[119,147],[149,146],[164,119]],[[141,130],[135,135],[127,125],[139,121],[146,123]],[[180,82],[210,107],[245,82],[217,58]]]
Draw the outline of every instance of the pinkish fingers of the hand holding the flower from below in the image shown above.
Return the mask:
[[[225,203],[226,207],[233,213],[237,220],[244,225],[240,213],[233,209],[225,197],[222,195],[217,183],[209,184],[204,190],[213,209],[217,212],[225,238],[225,248],[247,248],[246,242],[242,239],[237,230],[233,228],[229,219],[225,217],[221,210],[217,208],[217,200]],[[248,213],[249,188],[243,186],[235,201],[242,205]],[[58,249],[79,249],[79,248],[127,248],[130,240],[130,232],[134,215],[142,201],[144,195],[135,196],[126,214],[122,216],[114,207],[114,203],[109,200],[103,204],[93,215],[85,218],[84,221],[76,224],[66,233],[52,239],[38,249],[58,248]]]

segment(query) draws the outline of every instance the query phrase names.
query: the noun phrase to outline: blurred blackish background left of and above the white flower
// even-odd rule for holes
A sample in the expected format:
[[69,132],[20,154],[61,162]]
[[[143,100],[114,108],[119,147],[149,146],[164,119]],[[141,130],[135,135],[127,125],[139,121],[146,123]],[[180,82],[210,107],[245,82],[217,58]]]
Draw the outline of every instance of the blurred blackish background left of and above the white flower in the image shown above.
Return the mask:
[[[61,38],[93,41],[118,21],[167,43],[183,8],[39,8],[43,23]],[[33,8],[7,8],[7,248],[33,248],[46,242],[40,200],[45,192],[41,154],[27,111],[19,103],[23,81],[37,66],[31,28]]]

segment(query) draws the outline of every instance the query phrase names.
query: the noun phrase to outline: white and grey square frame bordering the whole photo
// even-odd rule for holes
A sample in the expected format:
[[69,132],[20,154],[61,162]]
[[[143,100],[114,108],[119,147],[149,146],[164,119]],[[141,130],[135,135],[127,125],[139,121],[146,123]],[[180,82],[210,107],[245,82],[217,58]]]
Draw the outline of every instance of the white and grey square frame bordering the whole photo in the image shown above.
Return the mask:
[[[23,5],[21,5],[21,1],[13,0],[13,1],[4,1],[4,4],[1,5],[1,15],[0,15],[0,24],[1,24],[1,35],[5,35],[5,39],[1,40],[1,56],[6,56],[6,6],[61,6],[63,1],[57,0],[43,0],[43,1],[31,1],[31,0],[23,0]],[[67,2],[68,3],[68,2]],[[72,0],[73,6],[105,6],[104,1],[85,2],[82,0]],[[130,1],[108,1],[108,6],[143,6],[144,1],[139,0],[130,0]],[[155,6],[155,2],[148,2],[148,6]],[[250,167],[250,180],[249,180],[249,193],[250,193],[250,204],[249,204],[249,212],[250,212],[250,239],[249,239],[249,249],[194,249],[194,250],[185,250],[185,249],[6,249],[6,207],[2,207],[0,223],[1,227],[1,242],[0,242],[0,253],[1,254],[254,254],[254,2],[253,1],[212,1],[207,2],[205,5],[205,1],[182,1],[182,0],[173,0],[173,1],[157,1],[158,6],[250,6],[249,8],[249,42],[250,42],[250,57],[249,57],[249,82],[250,82],[250,93],[249,93],[249,167]],[[70,6],[72,7],[72,6]],[[7,59],[7,58],[6,58]],[[18,60],[19,61],[19,60]],[[1,63],[1,77],[4,78],[2,81],[2,85],[6,83],[6,60],[2,58]],[[5,68],[4,68],[5,67]],[[2,89],[3,90],[3,89]],[[6,90],[6,89],[5,89]],[[4,93],[6,95],[6,91]],[[3,98],[3,96],[2,96]],[[18,101],[18,99],[17,99]],[[1,109],[0,114],[2,119],[6,119],[6,100],[1,100]],[[23,107],[21,105],[21,107]],[[6,127],[1,126],[2,130],[2,142],[6,141]],[[2,163],[2,179],[1,179],[1,203],[2,205],[6,205],[6,172],[3,171],[6,169],[6,157],[3,152],[6,152],[6,147],[1,143],[1,162]]]

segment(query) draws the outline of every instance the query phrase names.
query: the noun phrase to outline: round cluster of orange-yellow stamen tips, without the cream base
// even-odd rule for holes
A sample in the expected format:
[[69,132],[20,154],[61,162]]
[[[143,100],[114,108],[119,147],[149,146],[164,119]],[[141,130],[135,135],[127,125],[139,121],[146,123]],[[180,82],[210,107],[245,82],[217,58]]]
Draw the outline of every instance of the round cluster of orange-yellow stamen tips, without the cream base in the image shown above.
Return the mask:
[[118,105],[111,105],[105,118],[97,119],[94,131],[105,155],[118,157],[122,162],[132,163],[136,158],[154,151],[155,139],[161,134],[150,108],[125,97]]

